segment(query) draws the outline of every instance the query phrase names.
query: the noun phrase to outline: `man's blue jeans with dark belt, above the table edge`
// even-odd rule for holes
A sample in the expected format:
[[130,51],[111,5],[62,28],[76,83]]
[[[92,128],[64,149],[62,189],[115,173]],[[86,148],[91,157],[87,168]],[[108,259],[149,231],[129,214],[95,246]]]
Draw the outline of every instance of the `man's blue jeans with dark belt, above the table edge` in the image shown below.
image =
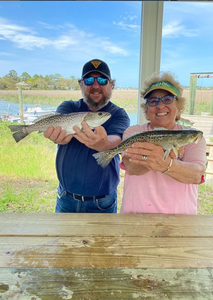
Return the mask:
[[58,187],[56,213],[117,213],[117,191],[104,198],[91,200],[75,200],[73,196]]

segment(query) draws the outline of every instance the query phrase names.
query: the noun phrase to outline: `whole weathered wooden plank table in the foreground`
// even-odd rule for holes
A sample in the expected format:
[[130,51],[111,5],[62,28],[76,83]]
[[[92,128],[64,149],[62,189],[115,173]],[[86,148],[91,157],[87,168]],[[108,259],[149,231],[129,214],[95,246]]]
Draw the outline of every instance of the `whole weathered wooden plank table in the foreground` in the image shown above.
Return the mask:
[[0,299],[213,299],[213,215],[0,214]]

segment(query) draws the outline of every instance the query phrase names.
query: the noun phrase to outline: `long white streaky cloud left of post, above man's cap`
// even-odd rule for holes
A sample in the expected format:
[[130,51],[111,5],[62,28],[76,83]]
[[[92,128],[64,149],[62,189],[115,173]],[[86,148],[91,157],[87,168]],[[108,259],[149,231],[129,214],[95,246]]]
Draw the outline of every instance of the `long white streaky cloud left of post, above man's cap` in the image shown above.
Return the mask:
[[[77,29],[72,24],[51,26],[44,22],[40,25],[47,29],[63,28],[60,35],[54,34],[54,38],[40,36],[38,32],[28,27],[11,24],[8,20],[0,18],[0,39],[12,42],[17,48],[25,50],[44,49],[53,47],[56,50],[73,50],[83,52],[83,48],[102,49],[113,54],[126,56],[128,53],[125,49],[119,47],[109,40],[108,37],[99,37],[94,34]],[[44,30],[42,31],[44,32]],[[82,47],[84,45],[84,47]],[[74,47],[72,49],[72,47]]]

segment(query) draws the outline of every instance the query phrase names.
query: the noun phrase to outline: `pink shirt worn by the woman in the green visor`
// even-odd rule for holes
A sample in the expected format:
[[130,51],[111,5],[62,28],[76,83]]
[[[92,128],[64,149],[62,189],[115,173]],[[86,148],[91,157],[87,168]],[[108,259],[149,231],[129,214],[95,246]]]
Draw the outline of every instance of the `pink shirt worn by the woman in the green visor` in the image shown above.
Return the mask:
[[[183,129],[176,124],[174,129]],[[150,124],[129,127],[123,139],[134,132],[148,131]],[[183,161],[206,164],[206,141],[185,146]],[[120,167],[126,170],[123,162]],[[202,183],[201,179],[201,183]],[[125,172],[121,213],[197,214],[198,185],[181,183],[158,171],[144,175]]]

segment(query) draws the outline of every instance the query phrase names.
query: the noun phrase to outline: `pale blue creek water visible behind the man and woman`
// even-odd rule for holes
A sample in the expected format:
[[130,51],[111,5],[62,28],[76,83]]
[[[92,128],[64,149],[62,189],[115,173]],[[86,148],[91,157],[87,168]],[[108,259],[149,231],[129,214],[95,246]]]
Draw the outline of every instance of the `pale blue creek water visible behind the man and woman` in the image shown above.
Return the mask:
[[[56,110],[56,106],[40,105],[42,110]],[[23,110],[33,108],[34,104],[23,104]],[[130,118],[130,125],[137,124],[137,112],[127,112]],[[19,115],[19,103],[0,100],[0,114]]]

